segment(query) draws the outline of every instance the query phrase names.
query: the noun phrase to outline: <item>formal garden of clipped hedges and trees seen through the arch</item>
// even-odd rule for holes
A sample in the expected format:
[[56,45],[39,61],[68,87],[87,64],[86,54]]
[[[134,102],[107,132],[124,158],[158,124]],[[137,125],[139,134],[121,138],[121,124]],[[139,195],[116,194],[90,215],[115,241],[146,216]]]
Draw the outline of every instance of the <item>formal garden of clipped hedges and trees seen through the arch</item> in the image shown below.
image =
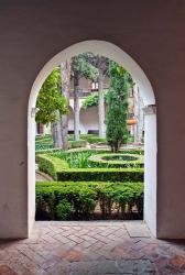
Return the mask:
[[[83,66],[86,65],[86,77],[90,78],[89,70],[96,75],[96,66],[89,62],[89,55],[85,57],[88,57],[90,65],[87,68],[87,59],[83,59]],[[78,63],[77,59],[72,61],[72,66],[83,74],[81,59]],[[58,92],[66,90],[62,80],[66,73],[62,66],[59,75],[57,68],[43,84],[37,99],[36,122],[51,123],[51,134],[35,138],[35,160],[37,173],[48,175],[50,180],[36,183],[36,220],[143,218],[144,151],[143,146],[132,146],[132,136],[127,130],[131,77],[113,62],[106,59],[106,66],[110,87],[106,97],[98,94],[100,99],[97,99],[107,102],[105,135],[102,129],[98,134],[80,134],[78,108],[74,114],[74,134],[66,131],[67,97],[65,92]],[[48,107],[48,102],[52,107]],[[75,105],[78,107],[78,97],[74,98],[74,108]],[[102,111],[100,113],[104,114]]]

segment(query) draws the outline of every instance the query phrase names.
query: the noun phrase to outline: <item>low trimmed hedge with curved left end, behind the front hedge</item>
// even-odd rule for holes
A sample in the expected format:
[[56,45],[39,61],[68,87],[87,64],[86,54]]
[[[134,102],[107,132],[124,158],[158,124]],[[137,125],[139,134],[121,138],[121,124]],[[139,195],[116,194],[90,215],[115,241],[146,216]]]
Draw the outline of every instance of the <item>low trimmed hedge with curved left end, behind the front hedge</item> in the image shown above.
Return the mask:
[[64,160],[45,154],[36,155],[36,162],[57,182],[143,182],[142,168],[68,168]]

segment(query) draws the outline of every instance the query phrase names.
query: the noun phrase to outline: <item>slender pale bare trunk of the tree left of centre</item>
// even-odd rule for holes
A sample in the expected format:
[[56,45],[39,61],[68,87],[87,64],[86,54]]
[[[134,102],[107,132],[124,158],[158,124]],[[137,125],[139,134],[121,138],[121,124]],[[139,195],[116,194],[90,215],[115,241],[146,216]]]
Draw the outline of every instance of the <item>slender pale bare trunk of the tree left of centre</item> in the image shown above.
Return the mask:
[[79,141],[79,78],[74,74],[74,138]]

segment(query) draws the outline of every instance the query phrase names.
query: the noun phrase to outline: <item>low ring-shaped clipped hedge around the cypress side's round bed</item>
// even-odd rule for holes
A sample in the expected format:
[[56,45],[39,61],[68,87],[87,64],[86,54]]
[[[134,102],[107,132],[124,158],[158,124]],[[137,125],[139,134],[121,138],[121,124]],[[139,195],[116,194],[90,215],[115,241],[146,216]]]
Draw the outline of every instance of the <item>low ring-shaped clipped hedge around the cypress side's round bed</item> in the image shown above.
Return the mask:
[[[126,160],[116,160],[116,157],[126,157]],[[129,157],[131,160],[129,160]],[[106,160],[108,158],[108,160]],[[127,160],[128,158],[128,160]],[[134,158],[134,160],[132,160]],[[94,167],[112,167],[112,168],[120,168],[120,167],[143,167],[144,160],[142,155],[137,154],[97,154],[91,155],[88,158],[90,166]]]

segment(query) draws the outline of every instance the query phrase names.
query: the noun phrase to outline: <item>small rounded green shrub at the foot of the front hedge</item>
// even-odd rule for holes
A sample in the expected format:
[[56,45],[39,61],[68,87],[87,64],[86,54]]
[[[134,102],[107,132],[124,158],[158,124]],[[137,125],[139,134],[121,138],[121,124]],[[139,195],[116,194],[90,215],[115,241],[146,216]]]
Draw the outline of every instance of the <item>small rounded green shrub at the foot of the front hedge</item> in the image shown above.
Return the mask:
[[68,220],[72,213],[72,206],[66,199],[59,201],[56,206],[56,218],[58,220]]

